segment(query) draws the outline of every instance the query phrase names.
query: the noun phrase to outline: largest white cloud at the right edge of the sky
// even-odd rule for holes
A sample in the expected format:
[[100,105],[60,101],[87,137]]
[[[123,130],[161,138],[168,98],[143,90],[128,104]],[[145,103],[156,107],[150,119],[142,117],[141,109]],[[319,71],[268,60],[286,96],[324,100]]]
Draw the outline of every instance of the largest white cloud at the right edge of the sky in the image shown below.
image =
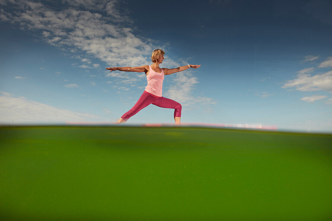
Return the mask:
[[298,74],[297,78],[287,81],[282,88],[295,87],[299,91],[328,91],[332,93],[332,71],[324,74]]

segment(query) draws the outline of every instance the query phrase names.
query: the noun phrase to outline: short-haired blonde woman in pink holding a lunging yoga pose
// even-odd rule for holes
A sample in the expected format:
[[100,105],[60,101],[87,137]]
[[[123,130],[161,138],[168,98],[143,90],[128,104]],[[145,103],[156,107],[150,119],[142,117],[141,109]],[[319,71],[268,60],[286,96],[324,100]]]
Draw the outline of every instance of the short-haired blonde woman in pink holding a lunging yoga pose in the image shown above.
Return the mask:
[[153,104],[161,108],[173,108],[174,111],[174,120],[176,125],[180,125],[181,119],[181,109],[182,106],[180,103],[173,101],[168,98],[162,97],[162,88],[164,75],[173,74],[175,72],[180,72],[187,70],[189,68],[199,68],[201,65],[191,65],[178,67],[178,68],[160,68],[159,64],[161,64],[164,60],[165,52],[156,49],[152,52],[151,60],[153,62],[152,65],[143,65],[140,67],[109,67],[106,68],[110,71],[132,71],[132,72],[145,72],[147,78],[147,86],[141,97],[138,99],[134,107],[132,107],[129,111],[127,111],[122,117],[118,120],[117,123],[126,122],[131,116],[136,114],[138,111],[142,110],[146,106]]

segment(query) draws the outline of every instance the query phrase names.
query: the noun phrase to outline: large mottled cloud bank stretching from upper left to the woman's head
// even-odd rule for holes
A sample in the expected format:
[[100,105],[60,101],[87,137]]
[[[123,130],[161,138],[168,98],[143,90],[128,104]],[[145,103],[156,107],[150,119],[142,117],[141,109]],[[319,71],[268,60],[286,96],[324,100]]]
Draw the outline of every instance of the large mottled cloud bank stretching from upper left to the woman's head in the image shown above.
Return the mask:
[[4,8],[15,9],[1,9],[0,20],[19,25],[22,30],[39,31],[41,39],[51,45],[71,52],[83,51],[114,66],[140,66],[148,61],[153,45],[134,36],[133,29],[125,26],[133,22],[120,14],[123,10],[119,10],[118,0],[62,4],[69,7],[53,10],[41,2],[0,1]]

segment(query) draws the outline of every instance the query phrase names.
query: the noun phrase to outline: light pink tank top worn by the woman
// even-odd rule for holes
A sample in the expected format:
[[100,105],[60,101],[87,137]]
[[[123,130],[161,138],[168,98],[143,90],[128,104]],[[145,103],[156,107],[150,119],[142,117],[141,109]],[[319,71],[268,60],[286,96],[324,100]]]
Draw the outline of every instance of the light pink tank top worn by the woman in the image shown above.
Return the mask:
[[162,97],[163,92],[163,81],[164,81],[164,70],[161,68],[161,73],[152,70],[149,65],[149,74],[146,75],[147,86],[145,91],[158,97]]

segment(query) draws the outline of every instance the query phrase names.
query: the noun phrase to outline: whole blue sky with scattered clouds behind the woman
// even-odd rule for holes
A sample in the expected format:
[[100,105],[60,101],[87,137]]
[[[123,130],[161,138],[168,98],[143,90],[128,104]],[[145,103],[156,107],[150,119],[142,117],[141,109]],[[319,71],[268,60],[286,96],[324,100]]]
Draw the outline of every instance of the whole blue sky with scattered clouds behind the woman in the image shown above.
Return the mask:
[[[165,76],[181,122],[332,132],[332,2],[0,0],[0,123],[115,122]],[[127,123],[174,123],[149,105]]]

